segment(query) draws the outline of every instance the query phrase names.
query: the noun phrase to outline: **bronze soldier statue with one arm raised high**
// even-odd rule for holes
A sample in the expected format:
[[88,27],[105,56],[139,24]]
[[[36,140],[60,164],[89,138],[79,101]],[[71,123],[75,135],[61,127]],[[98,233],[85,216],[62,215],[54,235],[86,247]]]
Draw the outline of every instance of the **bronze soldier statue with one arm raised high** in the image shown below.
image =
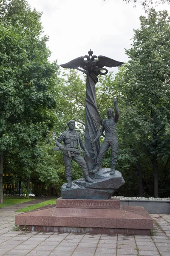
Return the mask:
[[114,99],[114,107],[115,107],[115,116],[113,115],[113,109],[108,108],[107,115],[108,119],[104,119],[102,122],[102,127],[97,134],[96,138],[93,140],[93,143],[99,139],[102,133],[105,131],[105,140],[103,141],[99,154],[97,156],[96,167],[91,172],[98,172],[102,163],[102,160],[108,151],[108,148],[111,147],[111,172],[110,175],[115,173],[115,166],[117,163],[117,154],[118,154],[118,136],[116,132],[117,122],[119,119],[119,109],[117,106],[118,97]]

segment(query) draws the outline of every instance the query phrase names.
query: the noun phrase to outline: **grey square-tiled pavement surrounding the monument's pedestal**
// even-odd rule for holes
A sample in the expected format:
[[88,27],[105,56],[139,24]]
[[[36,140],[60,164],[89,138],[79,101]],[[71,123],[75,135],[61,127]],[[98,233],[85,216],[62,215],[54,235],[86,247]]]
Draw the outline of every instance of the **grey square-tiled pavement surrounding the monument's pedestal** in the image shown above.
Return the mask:
[[15,230],[19,212],[0,209],[0,256],[170,256],[170,215],[151,214],[152,236]]

